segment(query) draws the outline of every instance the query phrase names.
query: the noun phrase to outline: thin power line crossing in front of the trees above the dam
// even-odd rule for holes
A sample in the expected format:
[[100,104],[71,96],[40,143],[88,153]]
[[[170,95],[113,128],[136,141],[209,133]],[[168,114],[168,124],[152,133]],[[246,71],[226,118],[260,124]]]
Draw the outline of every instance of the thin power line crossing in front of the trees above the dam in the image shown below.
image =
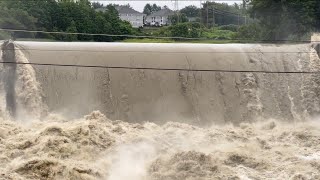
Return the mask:
[[312,43],[320,41],[311,40],[253,40],[253,39],[214,39],[214,38],[189,38],[189,37],[167,37],[167,36],[139,36],[129,34],[94,34],[94,33],[72,33],[72,32],[58,32],[58,31],[41,31],[41,30],[24,30],[24,29],[7,29],[0,28],[0,31],[6,32],[24,32],[24,33],[44,33],[44,34],[63,34],[63,35],[85,35],[85,36],[106,36],[106,37],[128,37],[128,38],[150,38],[150,39],[177,39],[177,40],[212,40],[212,41],[248,41],[248,42],[295,42],[295,43]]

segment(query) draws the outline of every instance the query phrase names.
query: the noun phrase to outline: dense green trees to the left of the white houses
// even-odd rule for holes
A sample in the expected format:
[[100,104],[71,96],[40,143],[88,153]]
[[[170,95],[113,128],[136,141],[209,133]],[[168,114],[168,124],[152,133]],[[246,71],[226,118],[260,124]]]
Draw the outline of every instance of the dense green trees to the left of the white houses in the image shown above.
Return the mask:
[[[89,0],[0,0],[0,27],[90,34],[128,34],[137,30],[122,21],[113,5],[97,12]],[[116,41],[124,37],[43,33],[1,33],[0,38],[48,38],[62,41]]]

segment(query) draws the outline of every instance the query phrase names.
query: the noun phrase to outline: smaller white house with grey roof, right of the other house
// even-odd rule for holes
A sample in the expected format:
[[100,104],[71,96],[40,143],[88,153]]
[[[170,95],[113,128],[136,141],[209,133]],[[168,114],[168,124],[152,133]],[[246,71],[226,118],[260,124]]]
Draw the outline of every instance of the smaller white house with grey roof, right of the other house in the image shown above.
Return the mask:
[[174,15],[174,11],[169,8],[161,9],[146,17],[145,24],[151,26],[166,26],[170,25],[169,16]]

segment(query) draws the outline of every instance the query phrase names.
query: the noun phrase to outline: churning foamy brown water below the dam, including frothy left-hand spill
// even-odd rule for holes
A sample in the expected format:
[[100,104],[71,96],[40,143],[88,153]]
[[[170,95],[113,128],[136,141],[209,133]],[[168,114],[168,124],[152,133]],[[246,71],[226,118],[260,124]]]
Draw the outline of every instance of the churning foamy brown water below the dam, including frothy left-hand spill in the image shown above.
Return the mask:
[[[28,62],[20,51],[16,59]],[[129,123],[100,111],[66,118],[48,112],[32,66],[16,72],[16,118],[0,84],[0,179],[320,179],[317,118],[207,127]]]

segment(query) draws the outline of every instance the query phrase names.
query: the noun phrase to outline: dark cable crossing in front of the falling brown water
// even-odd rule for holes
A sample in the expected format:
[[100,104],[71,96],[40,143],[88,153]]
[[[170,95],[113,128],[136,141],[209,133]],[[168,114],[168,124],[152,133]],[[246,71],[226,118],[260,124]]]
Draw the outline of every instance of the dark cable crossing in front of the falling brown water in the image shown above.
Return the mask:
[[4,62],[0,64],[57,66],[57,67],[79,67],[79,68],[103,68],[103,69],[126,69],[126,70],[155,70],[155,71],[188,71],[188,72],[220,72],[220,73],[264,73],[264,74],[319,74],[319,71],[264,71],[264,70],[222,70],[222,69],[187,69],[187,68],[156,68],[156,67],[126,67],[126,66],[93,66],[75,64],[44,64],[44,63],[20,63]]

